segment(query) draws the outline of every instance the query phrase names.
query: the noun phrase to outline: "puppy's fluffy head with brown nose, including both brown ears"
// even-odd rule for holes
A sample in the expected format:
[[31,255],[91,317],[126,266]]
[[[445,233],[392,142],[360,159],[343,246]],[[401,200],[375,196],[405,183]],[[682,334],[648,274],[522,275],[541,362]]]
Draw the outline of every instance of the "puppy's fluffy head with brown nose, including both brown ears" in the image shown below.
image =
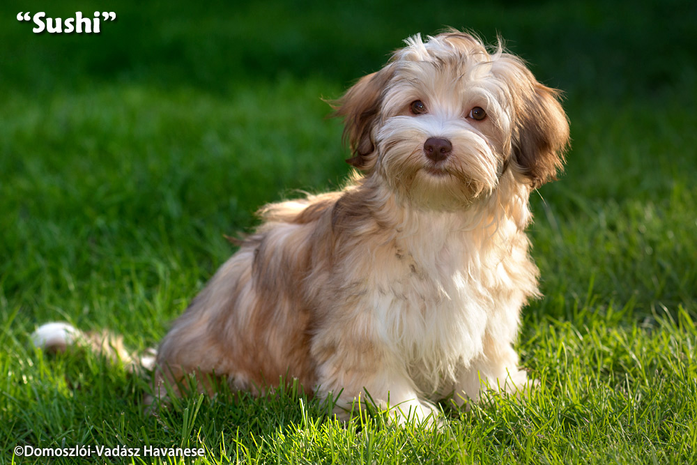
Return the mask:
[[507,169],[530,188],[555,176],[569,138],[557,91],[466,33],[406,43],[339,100],[348,162],[399,199],[439,210],[488,197]]

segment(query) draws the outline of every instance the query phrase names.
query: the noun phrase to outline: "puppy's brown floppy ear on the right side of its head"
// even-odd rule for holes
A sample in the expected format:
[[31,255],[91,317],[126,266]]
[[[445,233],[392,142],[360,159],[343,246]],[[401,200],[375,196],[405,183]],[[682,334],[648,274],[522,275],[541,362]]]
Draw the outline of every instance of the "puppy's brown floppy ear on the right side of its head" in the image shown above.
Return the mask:
[[564,165],[569,122],[558,97],[559,91],[535,82],[517,112],[513,155],[533,189],[556,179]]

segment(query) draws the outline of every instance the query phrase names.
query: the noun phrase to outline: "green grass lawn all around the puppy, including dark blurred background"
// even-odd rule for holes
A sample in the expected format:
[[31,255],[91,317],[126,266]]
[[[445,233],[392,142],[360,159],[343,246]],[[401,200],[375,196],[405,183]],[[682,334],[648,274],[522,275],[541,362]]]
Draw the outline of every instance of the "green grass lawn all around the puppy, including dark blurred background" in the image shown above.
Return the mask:
[[[694,5],[33,3],[0,6],[0,464],[48,461],[16,445],[201,447],[202,464],[697,462]],[[15,20],[96,9],[118,14],[99,36]],[[500,32],[565,91],[565,175],[532,199],[545,298],[523,312],[530,397],[445,406],[440,431],[343,425],[291,391],[151,416],[123,367],[31,348],[52,320],[157,344],[233,253],[224,235],[342,183],[321,98],[445,25]]]

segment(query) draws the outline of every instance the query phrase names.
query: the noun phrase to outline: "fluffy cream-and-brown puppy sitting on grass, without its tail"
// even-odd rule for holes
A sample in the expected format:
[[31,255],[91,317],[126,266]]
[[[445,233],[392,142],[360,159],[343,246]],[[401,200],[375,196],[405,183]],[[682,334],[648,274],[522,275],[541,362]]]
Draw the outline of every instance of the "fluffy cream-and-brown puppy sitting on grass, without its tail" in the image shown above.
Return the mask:
[[262,208],[162,340],[155,390],[189,374],[254,392],[297,379],[337,413],[369,397],[401,422],[448,395],[525,388],[528,198],[564,161],[558,97],[500,44],[408,38],[336,102],[346,188]]

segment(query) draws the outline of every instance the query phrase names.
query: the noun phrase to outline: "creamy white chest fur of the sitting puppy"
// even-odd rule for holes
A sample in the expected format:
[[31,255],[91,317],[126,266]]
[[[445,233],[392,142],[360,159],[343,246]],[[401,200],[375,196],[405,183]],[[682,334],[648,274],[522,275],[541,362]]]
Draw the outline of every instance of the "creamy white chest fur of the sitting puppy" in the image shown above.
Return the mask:
[[455,214],[420,213],[384,245],[389,252],[374,254],[374,330],[420,390],[436,390],[482,353],[492,317],[495,332],[514,337],[525,298],[517,288],[535,287],[534,273],[518,282],[509,272],[530,263],[526,250],[514,250],[517,234],[510,221],[472,228]]

